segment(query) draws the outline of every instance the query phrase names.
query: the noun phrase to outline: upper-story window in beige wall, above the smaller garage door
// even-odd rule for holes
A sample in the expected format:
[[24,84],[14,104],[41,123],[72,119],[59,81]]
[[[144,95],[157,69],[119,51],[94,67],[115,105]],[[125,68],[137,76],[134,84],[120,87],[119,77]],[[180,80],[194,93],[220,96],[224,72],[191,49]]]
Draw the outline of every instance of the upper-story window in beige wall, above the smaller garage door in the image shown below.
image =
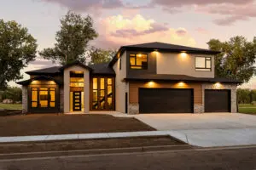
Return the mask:
[[212,57],[195,57],[195,71],[212,71]]

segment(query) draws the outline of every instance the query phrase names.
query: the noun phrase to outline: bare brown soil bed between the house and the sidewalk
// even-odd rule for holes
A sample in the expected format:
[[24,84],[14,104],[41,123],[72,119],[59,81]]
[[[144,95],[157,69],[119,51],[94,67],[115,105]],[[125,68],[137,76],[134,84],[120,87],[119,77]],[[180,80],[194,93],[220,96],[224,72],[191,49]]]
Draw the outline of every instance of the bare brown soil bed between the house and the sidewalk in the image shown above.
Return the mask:
[[31,114],[0,117],[0,136],[153,131],[135,118],[110,115]]

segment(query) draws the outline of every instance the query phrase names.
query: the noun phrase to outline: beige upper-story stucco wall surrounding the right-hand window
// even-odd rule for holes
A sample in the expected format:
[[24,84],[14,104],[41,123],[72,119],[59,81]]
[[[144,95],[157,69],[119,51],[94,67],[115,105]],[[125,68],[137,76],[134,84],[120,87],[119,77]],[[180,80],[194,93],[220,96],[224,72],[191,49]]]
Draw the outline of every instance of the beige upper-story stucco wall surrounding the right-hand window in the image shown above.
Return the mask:
[[205,54],[157,53],[157,74],[188,75],[191,77],[214,77],[214,56],[212,71],[195,71],[195,56],[212,56]]

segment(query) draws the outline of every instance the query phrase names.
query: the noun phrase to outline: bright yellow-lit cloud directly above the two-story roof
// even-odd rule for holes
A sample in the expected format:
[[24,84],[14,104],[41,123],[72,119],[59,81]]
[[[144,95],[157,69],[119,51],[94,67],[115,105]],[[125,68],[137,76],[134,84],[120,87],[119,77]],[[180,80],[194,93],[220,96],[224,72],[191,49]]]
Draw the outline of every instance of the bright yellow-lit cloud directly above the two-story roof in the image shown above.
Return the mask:
[[108,48],[119,48],[127,44],[156,41],[195,46],[195,39],[184,28],[175,29],[140,14],[130,18],[110,16],[100,20],[97,25],[99,38],[94,43],[101,48],[106,43]]

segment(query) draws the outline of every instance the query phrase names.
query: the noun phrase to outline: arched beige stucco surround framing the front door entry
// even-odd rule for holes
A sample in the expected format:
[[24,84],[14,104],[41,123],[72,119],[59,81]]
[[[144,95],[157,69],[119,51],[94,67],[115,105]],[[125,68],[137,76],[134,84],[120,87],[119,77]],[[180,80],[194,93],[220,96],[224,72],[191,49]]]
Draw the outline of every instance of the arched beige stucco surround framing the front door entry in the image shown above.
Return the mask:
[[70,112],[70,71],[84,71],[84,113],[90,111],[90,71],[79,65],[73,65],[64,70],[64,112]]

